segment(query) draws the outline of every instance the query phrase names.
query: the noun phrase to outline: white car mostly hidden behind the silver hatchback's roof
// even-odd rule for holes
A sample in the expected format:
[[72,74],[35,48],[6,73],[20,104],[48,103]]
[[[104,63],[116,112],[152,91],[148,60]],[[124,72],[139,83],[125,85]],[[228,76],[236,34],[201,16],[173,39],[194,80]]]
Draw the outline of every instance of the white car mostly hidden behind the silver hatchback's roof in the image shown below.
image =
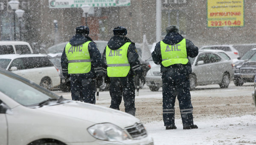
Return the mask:
[[238,61],[239,58],[239,52],[233,47],[233,45],[209,45],[202,46],[200,49],[223,50],[230,56],[233,62]]

